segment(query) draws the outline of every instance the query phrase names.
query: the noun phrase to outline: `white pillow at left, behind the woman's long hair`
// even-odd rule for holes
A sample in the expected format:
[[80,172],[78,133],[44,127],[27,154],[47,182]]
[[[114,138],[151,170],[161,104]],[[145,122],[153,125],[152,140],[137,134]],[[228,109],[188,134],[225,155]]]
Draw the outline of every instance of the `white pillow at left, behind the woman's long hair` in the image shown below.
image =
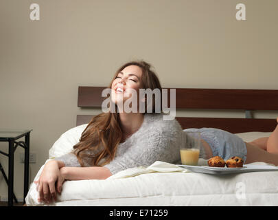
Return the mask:
[[87,125],[88,124],[82,124],[62,133],[59,139],[56,140],[50,148],[49,159],[60,157],[73,151],[73,146],[79,142],[82,132],[86,129]]

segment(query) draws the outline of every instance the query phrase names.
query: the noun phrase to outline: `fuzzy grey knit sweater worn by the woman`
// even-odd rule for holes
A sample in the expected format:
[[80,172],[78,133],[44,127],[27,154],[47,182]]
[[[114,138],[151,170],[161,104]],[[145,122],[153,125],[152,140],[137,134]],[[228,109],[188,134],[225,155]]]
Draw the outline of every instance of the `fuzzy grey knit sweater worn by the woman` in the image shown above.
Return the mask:
[[[104,167],[115,174],[127,168],[150,166],[158,160],[181,164],[180,146],[184,140],[183,135],[186,136],[185,131],[176,119],[163,120],[162,113],[146,113],[139,130],[118,145],[115,158]],[[203,152],[201,146],[200,157]],[[56,160],[64,162],[65,166],[80,166],[73,153],[56,157]]]

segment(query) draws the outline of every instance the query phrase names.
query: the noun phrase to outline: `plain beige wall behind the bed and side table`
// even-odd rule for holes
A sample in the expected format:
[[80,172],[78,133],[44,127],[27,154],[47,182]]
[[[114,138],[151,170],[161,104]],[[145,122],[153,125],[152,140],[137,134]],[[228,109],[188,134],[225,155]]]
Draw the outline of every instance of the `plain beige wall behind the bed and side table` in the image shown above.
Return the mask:
[[[40,5],[40,21],[29,18]],[[246,21],[235,5],[246,4]],[[163,87],[278,89],[276,0],[1,0],[0,127],[33,129],[31,181],[58,137],[75,126],[80,85],[106,86],[119,65],[143,58]],[[243,111],[178,115],[244,117]],[[275,118],[276,111],[256,112]],[[8,144],[1,142],[2,151]],[[14,192],[23,198],[15,154]],[[8,159],[0,155],[8,173]],[[0,196],[8,188],[0,174]]]

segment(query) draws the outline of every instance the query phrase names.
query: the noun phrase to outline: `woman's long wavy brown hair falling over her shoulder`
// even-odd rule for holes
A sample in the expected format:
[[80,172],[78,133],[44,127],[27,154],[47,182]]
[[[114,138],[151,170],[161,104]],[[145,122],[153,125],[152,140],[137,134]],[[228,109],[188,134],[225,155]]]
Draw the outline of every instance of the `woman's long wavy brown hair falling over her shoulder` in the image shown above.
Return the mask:
[[[145,61],[132,61],[119,67],[108,88],[111,89],[117,74],[130,65],[141,67],[141,86],[143,89],[150,88],[162,91],[159,78],[151,70],[152,65]],[[147,112],[146,107],[147,102],[145,102],[145,113]],[[155,100],[154,96],[152,96],[152,113],[154,111]],[[119,113],[117,113],[116,105],[116,112],[100,113],[91,119],[86,129],[82,132],[80,142],[73,146],[73,153],[78,157],[81,166],[104,166],[114,159],[117,146],[121,142],[122,137],[123,133],[119,126]]]

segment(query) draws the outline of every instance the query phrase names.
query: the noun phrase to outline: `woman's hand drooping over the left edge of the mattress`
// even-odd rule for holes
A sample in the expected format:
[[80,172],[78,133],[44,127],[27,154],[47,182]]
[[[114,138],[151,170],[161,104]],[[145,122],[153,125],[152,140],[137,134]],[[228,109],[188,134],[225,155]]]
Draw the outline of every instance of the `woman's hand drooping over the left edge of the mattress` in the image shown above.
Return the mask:
[[56,201],[56,192],[61,192],[64,181],[65,177],[61,175],[59,162],[56,160],[47,162],[40,178],[35,182],[38,190],[38,201],[44,201],[46,203],[50,203],[52,199]]

